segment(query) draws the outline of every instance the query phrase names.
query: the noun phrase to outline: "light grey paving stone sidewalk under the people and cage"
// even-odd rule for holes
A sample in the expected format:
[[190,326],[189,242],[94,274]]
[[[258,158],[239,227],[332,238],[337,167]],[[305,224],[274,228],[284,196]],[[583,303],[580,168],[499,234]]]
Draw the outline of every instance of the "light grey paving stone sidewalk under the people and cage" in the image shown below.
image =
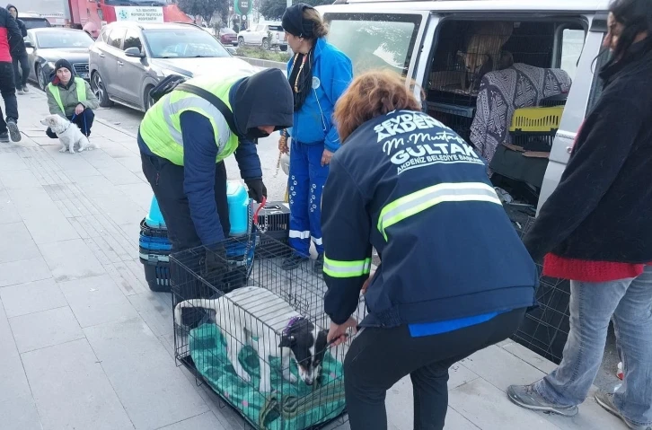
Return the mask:
[[[149,291],[137,259],[152,193],[135,137],[97,121],[101,149],[59,154],[45,96],[19,109],[22,142],[0,144],[0,428],[244,428],[175,364],[170,294]],[[625,428],[593,399],[572,419],[509,403],[508,384],[552,368],[511,342],[454,365],[446,428]],[[388,393],[393,430],[412,428],[411,395],[407,378]]]

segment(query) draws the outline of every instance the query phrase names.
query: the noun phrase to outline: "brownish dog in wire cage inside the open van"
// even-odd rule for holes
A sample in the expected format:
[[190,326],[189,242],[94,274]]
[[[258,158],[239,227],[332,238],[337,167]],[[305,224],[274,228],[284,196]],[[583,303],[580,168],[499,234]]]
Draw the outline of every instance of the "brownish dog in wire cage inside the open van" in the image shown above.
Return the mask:
[[[513,22],[478,22],[471,27],[471,36],[464,52],[457,53],[462,57],[466,71],[462,75],[464,92],[478,86],[483,75],[514,64],[511,54],[502,50],[513,31]],[[471,77],[468,86],[467,75]]]

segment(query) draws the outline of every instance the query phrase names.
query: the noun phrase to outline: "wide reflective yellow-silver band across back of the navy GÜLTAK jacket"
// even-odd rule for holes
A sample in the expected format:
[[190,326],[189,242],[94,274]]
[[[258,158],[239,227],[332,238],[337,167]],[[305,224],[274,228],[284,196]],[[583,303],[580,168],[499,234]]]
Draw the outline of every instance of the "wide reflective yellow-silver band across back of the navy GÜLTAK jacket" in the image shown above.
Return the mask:
[[387,228],[429,207],[444,202],[479,201],[502,205],[496,190],[482,182],[459,182],[433,185],[398,198],[383,207],[378,217],[378,231],[387,241]]

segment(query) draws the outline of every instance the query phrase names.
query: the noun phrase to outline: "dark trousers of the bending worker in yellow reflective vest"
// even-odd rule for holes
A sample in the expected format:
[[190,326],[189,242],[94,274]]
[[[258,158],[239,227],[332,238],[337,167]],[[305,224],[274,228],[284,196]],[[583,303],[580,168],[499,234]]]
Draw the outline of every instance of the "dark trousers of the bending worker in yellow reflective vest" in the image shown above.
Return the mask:
[[[195,224],[190,216],[188,197],[183,192],[183,167],[173,164],[158,156],[140,154],[143,173],[149,181],[154,196],[161,208],[163,220],[172,242],[172,251],[188,250],[201,245]],[[229,206],[226,200],[226,166],[224,162],[216,164],[215,199],[217,215],[222,224],[225,237],[229,236]]]

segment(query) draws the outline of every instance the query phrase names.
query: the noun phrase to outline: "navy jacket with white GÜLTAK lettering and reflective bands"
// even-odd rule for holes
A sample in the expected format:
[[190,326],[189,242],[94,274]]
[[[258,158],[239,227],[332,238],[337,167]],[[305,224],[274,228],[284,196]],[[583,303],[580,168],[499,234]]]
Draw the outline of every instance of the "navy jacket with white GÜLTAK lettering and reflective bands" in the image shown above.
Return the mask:
[[338,324],[357,308],[372,247],[382,262],[363,326],[411,329],[534,303],[536,268],[484,162],[423,112],[394,111],[348,136],[330,162],[322,234],[324,308]]

